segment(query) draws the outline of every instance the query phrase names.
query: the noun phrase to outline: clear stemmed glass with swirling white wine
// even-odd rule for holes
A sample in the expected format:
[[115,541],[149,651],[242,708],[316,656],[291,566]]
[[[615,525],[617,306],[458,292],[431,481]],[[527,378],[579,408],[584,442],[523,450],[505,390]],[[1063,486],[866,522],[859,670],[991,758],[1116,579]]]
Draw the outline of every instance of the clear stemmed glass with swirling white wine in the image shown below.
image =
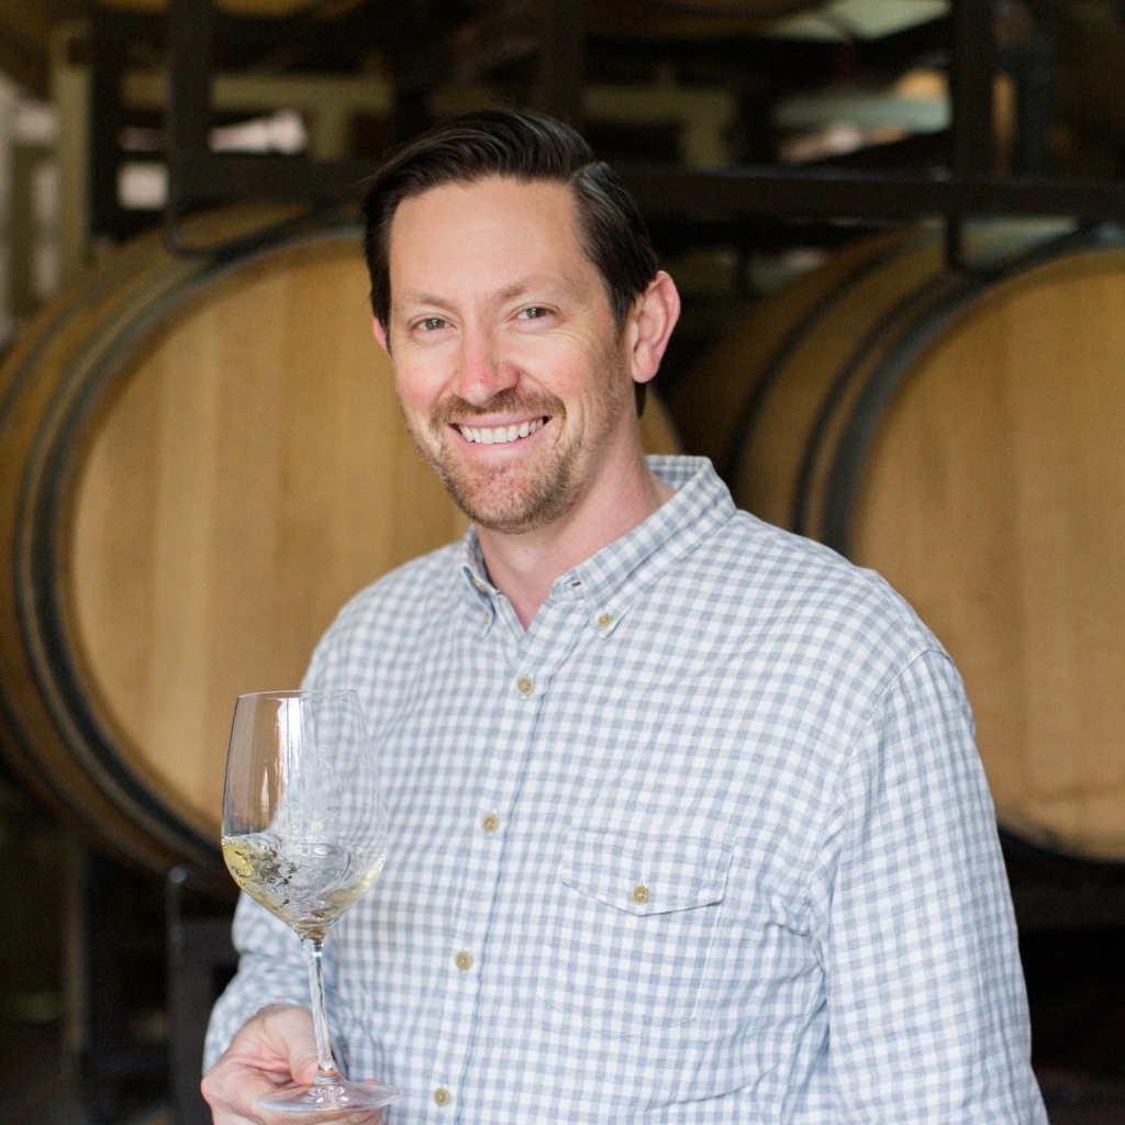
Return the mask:
[[240,695],[223,801],[223,858],[238,885],[300,937],[318,1060],[310,1086],[259,1099],[274,1112],[376,1109],[399,1097],[349,1082],[324,1005],[328,927],[376,881],[387,850],[375,754],[353,691]]

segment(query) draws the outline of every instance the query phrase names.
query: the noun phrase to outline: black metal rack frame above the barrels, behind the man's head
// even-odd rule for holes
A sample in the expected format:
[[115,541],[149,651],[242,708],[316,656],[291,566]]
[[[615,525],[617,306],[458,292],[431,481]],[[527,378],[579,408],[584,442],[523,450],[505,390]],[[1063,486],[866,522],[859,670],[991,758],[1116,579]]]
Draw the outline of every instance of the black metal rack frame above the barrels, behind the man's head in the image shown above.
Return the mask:
[[[543,21],[540,66],[543,108],[574,119],[580,84],[580,7],[552,0]],[[1070,215],[1125,218],[1125,186],[1066,182],[1047,176],[992,173],[992,76],[996,44],[990,0],[954,0],[951,47],[951,160],[947,171],[781,168],[746,165],[722,171],[622,169],[642,208],[695,219],[747,215],[951,219],[976,216]],[[291,161],[215,154],[207,127],[213,76],[212,0],[169,6],[170,198],[166,228],[174,234],[183,210],[200,198],[248,195],[281,200],[339,201],[372,171],[364,162]],[[1042,116],[1042,114],[1041,114]],[[174,241],[174,237],[173,237]]]

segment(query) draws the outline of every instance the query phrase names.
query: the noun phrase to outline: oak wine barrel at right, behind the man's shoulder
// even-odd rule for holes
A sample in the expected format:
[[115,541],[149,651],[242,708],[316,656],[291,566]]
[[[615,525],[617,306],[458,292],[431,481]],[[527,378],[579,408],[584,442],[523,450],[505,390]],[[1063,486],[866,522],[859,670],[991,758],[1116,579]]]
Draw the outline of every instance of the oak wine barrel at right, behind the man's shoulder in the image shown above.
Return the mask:
[[882,573],[964,676],[1001,828],[1125,861],[1125,242],[864,241],[669,394],[742,507]]

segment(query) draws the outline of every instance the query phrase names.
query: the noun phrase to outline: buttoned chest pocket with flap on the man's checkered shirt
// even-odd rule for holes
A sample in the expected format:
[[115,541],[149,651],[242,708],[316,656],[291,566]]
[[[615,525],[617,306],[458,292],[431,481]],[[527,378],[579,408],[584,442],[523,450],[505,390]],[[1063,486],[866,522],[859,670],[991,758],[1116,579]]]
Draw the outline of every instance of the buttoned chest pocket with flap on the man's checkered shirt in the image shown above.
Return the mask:
[[690,1020],[730,856],[696,836],[573,831],[548,911],[540,999],[608,1038]]

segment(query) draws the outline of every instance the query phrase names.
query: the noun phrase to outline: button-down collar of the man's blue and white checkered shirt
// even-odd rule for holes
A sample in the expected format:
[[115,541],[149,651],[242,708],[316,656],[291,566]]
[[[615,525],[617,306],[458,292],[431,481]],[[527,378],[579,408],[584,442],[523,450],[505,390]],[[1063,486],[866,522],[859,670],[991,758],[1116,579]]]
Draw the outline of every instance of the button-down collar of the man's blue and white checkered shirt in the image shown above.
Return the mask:
[[[669,566],[712,536],[736,511],[730,490],[705,457],[649,457],[649,467],[675,495],[644,523],[559,575],[550,597],[580,598],[591,623],[611,633],[640,594]],[[488,578],[475,528],[462,540],[460,568],[474,597],[498,593]]]

